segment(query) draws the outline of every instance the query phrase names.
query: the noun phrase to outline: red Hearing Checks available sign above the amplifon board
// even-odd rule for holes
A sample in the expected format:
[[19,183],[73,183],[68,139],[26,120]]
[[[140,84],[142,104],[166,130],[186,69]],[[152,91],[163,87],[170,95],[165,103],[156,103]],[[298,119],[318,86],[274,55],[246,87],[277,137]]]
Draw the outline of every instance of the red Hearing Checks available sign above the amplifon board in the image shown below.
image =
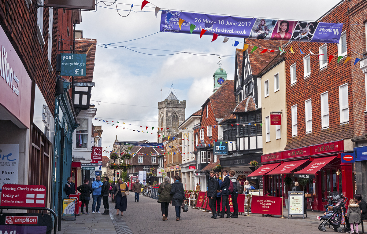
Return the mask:
[[1,206],[45,207],[46,187],[43,185],[4,184]]

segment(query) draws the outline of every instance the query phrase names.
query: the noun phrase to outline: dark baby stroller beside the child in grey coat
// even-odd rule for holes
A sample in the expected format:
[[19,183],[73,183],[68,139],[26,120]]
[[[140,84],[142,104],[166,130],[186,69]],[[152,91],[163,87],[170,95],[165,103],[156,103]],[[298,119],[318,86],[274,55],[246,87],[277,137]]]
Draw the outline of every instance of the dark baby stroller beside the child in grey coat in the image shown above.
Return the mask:
[[319,230],[326,231],[326,226],[331,226],[333,227],[334,231],[341,233],[343,231],[343,229],[340,227],[342,217],[344,216],[343,208],[345,207],[345,202],[348,199],[344,197],[343,194],[331,195],[331,196],[328,196],[328,198],[333,198],[333,199],[327,200],[330,205],[335,203],[333,214],[327,219],[321,218],[322,222],[319,225]]

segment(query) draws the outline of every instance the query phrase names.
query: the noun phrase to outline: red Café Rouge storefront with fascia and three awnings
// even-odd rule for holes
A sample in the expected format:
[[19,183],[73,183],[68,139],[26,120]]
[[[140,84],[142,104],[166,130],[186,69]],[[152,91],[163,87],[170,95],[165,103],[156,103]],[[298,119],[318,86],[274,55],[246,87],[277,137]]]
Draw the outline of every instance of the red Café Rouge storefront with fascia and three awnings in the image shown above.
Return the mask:
[[341,163],[344,141],[323,143],[261,156],[262,166],[248,179],[263,178],[264,191],[272,196],[287,198],[295,182],[307,194],[307,208],[324,211],[326,199],[332,192],[352,198],[354,178],[352,163]]

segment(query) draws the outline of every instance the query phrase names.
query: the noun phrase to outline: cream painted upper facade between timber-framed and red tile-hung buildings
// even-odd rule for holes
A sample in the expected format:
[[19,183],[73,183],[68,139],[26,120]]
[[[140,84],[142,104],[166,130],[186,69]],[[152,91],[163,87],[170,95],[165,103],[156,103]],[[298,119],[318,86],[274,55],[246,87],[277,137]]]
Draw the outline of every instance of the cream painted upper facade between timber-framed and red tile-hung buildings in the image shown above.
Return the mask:
[[[263,154],[282,151],[287,144],[285,69],[285,61],[280,58],[279,62],[265,70],[261,76]],[[272,112],[281,113],[281,125],[270,125],[270,113]]]

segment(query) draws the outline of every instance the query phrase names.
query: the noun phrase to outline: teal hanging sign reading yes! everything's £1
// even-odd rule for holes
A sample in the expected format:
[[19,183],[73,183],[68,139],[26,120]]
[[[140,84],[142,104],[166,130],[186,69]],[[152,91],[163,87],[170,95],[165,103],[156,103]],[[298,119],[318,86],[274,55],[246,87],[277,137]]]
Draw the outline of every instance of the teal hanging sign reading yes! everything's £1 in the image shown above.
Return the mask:
[[86,76],[86,54],[61,54],[61,76]]

